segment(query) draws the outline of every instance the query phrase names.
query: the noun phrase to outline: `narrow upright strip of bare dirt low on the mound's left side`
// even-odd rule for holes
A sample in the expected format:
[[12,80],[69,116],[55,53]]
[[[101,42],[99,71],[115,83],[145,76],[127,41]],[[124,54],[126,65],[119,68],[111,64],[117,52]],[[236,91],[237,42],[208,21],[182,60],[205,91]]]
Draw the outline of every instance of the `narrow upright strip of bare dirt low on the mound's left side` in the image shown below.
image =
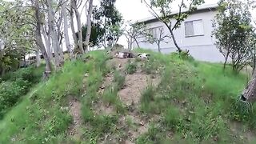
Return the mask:
[[69,127],[68,134],[79,137],[79,128],[82,126],[81,102],[76,98],[70,98],[69,113],[73,118],[73,122]]

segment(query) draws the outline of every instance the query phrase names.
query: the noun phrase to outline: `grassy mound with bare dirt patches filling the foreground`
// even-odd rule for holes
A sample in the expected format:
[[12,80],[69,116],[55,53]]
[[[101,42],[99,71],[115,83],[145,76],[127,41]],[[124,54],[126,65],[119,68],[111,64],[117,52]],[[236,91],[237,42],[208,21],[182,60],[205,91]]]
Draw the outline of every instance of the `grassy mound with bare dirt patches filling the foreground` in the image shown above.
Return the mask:
[[146,52],[66,62],[5,114],[0,143],[255,142],[256,114],[237,100],[245,74]]

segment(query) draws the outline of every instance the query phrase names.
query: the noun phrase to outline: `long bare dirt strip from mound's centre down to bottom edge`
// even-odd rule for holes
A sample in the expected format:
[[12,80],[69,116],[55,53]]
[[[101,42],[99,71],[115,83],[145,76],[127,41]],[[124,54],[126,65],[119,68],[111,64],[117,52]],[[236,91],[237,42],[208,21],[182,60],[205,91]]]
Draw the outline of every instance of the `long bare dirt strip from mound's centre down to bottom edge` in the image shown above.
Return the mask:
[[131,118],[136,129],[127,130],[128,138],[124,143],[134,143],[140,135],[145,134],[149,130],[150,121],[153,119],[147,120],[141,117],[141,114],[138,112],[139,102],[143,90],[150,84],[158,86],[160,80],[158,76],[152,77],[140,72],[126,75],[125,88],[118,91],[118,96],[128,106],[130,112],[126,117],[120,118],[119,122],[122,126],[126,126],[126,118]]

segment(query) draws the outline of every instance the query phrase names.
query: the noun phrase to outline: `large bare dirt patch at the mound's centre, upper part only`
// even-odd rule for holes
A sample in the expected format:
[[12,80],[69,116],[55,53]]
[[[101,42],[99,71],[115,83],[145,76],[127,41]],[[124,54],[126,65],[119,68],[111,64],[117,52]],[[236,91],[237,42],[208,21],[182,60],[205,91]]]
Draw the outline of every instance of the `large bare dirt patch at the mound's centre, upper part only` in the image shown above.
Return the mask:
[[160,78],[152,78],[146,74],[128,74],[126,75],[125,88],[118,92],[118,96],[126,106],[130,106],[133,103],[136,105],[141,99],[143,90],[146,89],[150,83],[153,86],[158,86]]

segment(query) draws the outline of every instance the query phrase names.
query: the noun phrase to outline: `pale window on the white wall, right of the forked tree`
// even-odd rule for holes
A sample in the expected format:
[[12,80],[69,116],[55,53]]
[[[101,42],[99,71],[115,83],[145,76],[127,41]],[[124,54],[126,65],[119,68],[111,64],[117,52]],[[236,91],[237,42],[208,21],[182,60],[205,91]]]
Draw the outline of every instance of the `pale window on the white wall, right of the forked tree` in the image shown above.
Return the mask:
[[185,22],[185,36],[199,36],[203,35],[202,19],[190,22]]

